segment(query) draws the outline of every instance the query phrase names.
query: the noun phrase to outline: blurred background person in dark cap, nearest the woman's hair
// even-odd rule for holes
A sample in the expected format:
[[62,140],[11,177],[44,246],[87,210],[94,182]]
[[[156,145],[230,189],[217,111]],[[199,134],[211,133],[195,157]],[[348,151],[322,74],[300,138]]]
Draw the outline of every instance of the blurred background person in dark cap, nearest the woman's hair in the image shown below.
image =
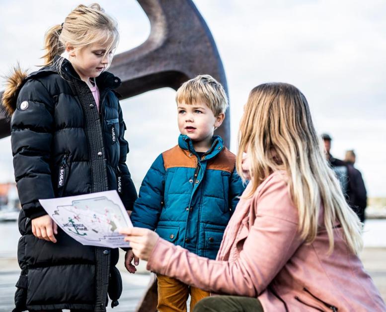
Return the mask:
[[332,170],[334,170],[337,178],[339,179],[339,183],[342,188],[343,194],[346,196],[346,199],[347,199],[347,194],[350,193],[349,172],[348,172],[347,163],[341,159],[333,157],[330,154],[331,141],[332,141],[331,136],[327,133],[323,133],[321,137],[324,141],[324,152],[325,152],[327,161],[330,163]]

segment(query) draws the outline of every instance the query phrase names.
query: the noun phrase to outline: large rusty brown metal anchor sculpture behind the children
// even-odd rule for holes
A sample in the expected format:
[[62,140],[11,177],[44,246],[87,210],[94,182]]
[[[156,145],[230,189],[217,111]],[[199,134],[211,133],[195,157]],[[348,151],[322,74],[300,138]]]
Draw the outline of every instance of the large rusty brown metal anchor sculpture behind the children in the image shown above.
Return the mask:
[[[151,33],[139,47],[115,55],[109,71],[121,78],[123,98],[170,87],[176,90],[198,74],[210,74],[228,91],[224,67],[205,20],[191,0],[138,0],[149,17]],[[124,39],[123,39],[124,40]],[[0,93],[1,98],[2,92]],[[229,112],[216,130],[230,143]],[[10,135],[0,114],[0,138]]]

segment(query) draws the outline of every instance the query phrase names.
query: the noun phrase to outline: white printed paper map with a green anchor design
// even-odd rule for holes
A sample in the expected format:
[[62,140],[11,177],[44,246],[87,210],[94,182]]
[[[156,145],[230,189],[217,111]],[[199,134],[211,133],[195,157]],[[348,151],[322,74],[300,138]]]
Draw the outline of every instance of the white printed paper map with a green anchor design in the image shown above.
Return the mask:
[[130,246],[118,233],[119,229],[133,225],[116,191],[39,202],[63,231],[83,245]]

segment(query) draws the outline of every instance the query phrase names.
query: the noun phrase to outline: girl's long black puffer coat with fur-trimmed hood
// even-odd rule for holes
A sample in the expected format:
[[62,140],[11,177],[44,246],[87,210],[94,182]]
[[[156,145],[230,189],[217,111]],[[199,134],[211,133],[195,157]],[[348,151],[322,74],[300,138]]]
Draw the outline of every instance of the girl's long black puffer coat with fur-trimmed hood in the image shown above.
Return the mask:
[[[96,84],[100,113],[71,63],[61,74],[44,67],[9,80],[3,104],[12,113],[11,144],[22,205],[15,311],[105,311],[107,291],[116,304],[122,280],[118,250],[82,246],[58,229],[57,243],[37,239],[31,218],[44,215],[38,199],[119,189],[131,210],[137,198],[126,166],[125,123],[114,88],[120,80],[103,72]],[[17,97],[17,101],[15,101]],[[115,301],[115,302],[114,302]]]

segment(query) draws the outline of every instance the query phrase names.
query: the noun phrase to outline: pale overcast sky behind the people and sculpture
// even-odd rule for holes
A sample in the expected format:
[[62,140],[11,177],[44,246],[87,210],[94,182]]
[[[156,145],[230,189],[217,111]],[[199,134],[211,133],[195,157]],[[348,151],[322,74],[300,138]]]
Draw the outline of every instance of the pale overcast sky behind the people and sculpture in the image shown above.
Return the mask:
[[[35,69],[45,31],[79,1],[0,0],[0,73],[16,61]],[[83,2],[89,4],[91,2]],[[135,0],[99,1],[120,25],[117,53],[140,45],[150,24]],[[383,0],[196,0],[226,70],[231,150],[249,91],[263,82],[297,86],[332,154],[354,149],[368,193],[386,197],[386,2]],[[3,82],[1,80],[0,82]],[[162,151],[177,143],[175,92],[160,89],[122,101],[128,165],[139,187]],[[13,180],[9,138],[0,140],[0,182]]]

